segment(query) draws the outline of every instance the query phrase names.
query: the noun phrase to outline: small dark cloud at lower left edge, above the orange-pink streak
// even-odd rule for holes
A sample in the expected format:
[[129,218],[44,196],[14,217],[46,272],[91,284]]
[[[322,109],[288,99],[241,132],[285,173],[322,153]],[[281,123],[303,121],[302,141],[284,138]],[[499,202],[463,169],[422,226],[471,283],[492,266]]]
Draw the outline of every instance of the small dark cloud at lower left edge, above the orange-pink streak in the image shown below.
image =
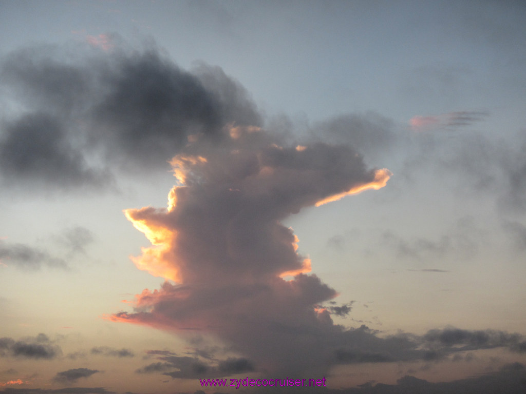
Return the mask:
[[21,357],[34,359],[53,359],[62,355],[62,349],[45,334],[15,341],[13,338],[0,338],[0,357]]

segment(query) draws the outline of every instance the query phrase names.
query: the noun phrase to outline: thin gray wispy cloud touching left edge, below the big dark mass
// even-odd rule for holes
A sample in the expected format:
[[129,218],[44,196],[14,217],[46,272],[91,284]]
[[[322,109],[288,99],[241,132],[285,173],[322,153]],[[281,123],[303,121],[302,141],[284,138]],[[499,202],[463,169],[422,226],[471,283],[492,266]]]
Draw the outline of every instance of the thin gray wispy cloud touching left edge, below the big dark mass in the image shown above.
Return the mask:
[[53,257],[47,251],[21,243],[7,243],[0,240],[0,261],[7,266],[36,270],[43,265],[67,269],[62,258]]

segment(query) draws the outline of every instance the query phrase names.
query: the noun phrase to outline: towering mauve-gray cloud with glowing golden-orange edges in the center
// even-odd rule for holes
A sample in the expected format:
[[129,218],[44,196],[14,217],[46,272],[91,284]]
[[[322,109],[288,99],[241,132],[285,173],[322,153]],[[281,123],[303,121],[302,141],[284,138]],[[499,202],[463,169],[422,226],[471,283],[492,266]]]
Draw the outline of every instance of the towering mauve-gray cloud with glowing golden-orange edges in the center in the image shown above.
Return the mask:
[[[257,128],[225,128],[221,146],[196,143],[171,160],[179,185],[168,208],[126,210],[154,245],[133,257],[166,282],[113,320],[204,330],[255,361],[288,373],[320,367],[340,328],[316,306],[337,295],[310,272],[281,221],[307,206],[378,189],[388,170],[367,170],[347,146],[279,146]],[[193,151],[194,150],[194,151]],[[286,278],[294,277],[292,280]]]

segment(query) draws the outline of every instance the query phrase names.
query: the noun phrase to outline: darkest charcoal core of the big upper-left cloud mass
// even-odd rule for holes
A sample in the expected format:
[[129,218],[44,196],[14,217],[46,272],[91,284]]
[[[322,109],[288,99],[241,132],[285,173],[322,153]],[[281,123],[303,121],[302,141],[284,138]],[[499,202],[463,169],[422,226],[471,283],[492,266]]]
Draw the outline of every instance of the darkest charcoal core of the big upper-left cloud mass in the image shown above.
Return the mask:
[[102,142],[108,154],[166,161],[190,134],[219,136],[226,123],[199,79],[155,50],[120,57],[103,79],[107,92],[93,109],[99,123],[93,142]]

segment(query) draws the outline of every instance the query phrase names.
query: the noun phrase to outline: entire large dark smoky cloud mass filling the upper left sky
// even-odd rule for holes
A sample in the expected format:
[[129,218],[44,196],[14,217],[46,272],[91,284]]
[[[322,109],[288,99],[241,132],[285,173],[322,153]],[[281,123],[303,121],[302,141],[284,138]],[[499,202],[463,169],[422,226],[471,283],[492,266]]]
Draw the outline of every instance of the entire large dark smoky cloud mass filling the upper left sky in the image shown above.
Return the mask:
[[219,67],[188,72],[155,45],[120,41],[110,53],[44,45],[0,59],[4,183],[114,187],[115,167],[166,168],[189,140],[220,141],[228,124],[261,126],[247,91]]

